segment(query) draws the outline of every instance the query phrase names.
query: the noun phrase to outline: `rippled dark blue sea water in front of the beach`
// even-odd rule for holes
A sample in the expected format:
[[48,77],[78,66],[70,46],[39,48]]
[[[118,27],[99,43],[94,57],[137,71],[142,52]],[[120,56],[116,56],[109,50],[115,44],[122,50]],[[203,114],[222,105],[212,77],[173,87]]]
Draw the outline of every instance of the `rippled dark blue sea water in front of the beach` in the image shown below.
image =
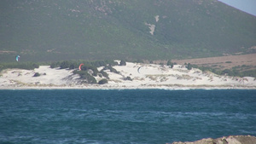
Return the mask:
[[256,135],[256,90],[0,90],[0,143],[139,143]]

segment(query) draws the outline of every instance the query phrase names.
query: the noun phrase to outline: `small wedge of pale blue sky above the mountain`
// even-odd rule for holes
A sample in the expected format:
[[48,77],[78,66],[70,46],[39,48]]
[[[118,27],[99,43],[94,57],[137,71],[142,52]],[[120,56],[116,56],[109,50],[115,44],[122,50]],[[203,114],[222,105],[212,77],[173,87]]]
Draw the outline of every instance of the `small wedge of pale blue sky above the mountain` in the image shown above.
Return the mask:
[[240,9],[248,14],[256,16],[256,0],[218,0],[222,3],[226,3],[236,9]]

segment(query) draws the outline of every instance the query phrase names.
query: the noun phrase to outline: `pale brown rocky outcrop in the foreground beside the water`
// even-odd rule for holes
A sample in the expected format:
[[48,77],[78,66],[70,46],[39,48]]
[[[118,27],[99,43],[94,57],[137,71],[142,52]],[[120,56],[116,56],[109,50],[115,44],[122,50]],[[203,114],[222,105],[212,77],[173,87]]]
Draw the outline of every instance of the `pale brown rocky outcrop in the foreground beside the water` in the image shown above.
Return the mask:
[[194,142],[173,142],[172,144],[256,144],[256,137],[252,135],[231,135],[217,139],[207,138]]

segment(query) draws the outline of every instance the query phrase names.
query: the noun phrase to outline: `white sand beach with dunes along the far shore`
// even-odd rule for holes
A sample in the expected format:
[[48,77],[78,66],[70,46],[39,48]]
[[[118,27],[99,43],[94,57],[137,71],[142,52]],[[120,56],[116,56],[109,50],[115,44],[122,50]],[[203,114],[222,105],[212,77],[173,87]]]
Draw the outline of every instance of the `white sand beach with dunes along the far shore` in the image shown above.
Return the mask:
[[[182,65],[170,68],[126,62],[126,66],[113,68],[119,73],[105,70],[108,84],[85,84],[73,70],[50,66],[34,70],[7,69],[1,72],[0,89],[256,89],[256,78],[219,76],[196,68],[188,70]],[[36,72],[39,77],[33,77]],[[95,78],[97,82],[102,79]]]

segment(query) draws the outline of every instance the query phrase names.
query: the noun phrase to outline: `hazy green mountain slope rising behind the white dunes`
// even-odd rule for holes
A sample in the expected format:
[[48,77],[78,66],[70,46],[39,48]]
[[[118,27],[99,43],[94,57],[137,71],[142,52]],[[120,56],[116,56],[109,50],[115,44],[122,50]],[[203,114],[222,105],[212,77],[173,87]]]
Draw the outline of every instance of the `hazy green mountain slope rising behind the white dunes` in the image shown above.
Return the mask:
[[256,17],[217,0],[1,0],[0,61],[256,52]]

